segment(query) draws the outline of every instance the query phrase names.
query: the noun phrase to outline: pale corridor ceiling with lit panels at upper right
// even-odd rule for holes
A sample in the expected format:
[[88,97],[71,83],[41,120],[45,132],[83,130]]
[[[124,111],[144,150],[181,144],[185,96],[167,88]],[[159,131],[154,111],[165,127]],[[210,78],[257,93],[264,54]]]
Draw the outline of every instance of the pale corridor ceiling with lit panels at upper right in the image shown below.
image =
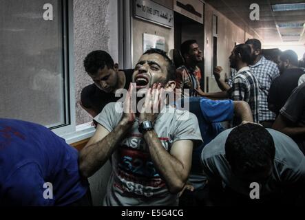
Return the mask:
[[[271,8],[273,4],[305,3],[305,0],[206,0],[205,2],[212,5],[213,8],[224,14],[225,17],[240,28],[245,29],[250,34],[255,32],[265,45],[305,43],[303,26],[305,23],[305,10],[273,12]],[[249,14],[252,11],[249,8],[252,3],[257,3],[260,6],[260,20],[258,21],[251,21],[249,18]],[[301,25],[300,28],[286,27],[297,23]]]

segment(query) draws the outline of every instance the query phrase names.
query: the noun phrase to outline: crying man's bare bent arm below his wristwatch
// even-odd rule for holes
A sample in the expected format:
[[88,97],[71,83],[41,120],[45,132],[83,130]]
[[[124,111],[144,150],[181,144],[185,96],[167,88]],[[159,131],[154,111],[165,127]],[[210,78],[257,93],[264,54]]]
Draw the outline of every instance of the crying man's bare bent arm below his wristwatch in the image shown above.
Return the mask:
[[171,152],[168,153],[155,131],[147,131],[144,138],[149,146],[151,159],[158,173],[165,179],[169,192],[180,192],[185,186],[189,170],[191,170],[193,142],[191,140],[178,140],[173,143]]

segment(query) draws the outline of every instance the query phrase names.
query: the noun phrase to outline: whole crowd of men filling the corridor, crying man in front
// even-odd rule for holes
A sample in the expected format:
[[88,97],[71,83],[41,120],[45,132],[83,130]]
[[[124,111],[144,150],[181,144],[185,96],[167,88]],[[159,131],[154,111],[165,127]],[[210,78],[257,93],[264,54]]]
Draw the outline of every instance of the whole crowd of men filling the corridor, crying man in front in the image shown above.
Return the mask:
[[304,205],[305,56],[269,61],[261,47],[232,48],[229,81],[213,70],[216,93],[200,88],[195,40],[180,67],[158,49],[134,69],[90,52],[81,106],[94,135],[78,153],[41,125],[1,119],[0,205],[90,206],[87,177],[108,160],[105,206]]

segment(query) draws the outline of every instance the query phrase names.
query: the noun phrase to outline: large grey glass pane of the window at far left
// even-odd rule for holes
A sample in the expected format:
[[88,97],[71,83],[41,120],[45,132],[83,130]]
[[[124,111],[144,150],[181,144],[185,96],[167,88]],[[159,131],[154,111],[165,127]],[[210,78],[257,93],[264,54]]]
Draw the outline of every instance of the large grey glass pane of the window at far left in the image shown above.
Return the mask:
[[[65,124],[63,8],[48,3],[0,0],[1,118]],[[52,20],[43,18],[47,10]]]

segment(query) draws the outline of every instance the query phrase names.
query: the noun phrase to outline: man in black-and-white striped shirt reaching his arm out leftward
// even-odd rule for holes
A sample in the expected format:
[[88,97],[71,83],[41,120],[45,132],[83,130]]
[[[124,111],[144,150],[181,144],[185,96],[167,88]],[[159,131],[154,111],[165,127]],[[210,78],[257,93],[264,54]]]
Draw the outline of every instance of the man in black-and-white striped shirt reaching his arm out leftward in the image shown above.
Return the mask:
[[[249,64],[251,63],[251,47],[246,44],[240,44],[234,47],[229,57],[230,67],[236,69],[232,86],[227,91],[216,93],[204,93],[198,89],[198,94],[207,98],[230,98],[231,100],[241,100],[248,102],[253,115],[253,121],[259,122],[259,83],[251,73]],[[233,124],[240,122],[233,120]]]

